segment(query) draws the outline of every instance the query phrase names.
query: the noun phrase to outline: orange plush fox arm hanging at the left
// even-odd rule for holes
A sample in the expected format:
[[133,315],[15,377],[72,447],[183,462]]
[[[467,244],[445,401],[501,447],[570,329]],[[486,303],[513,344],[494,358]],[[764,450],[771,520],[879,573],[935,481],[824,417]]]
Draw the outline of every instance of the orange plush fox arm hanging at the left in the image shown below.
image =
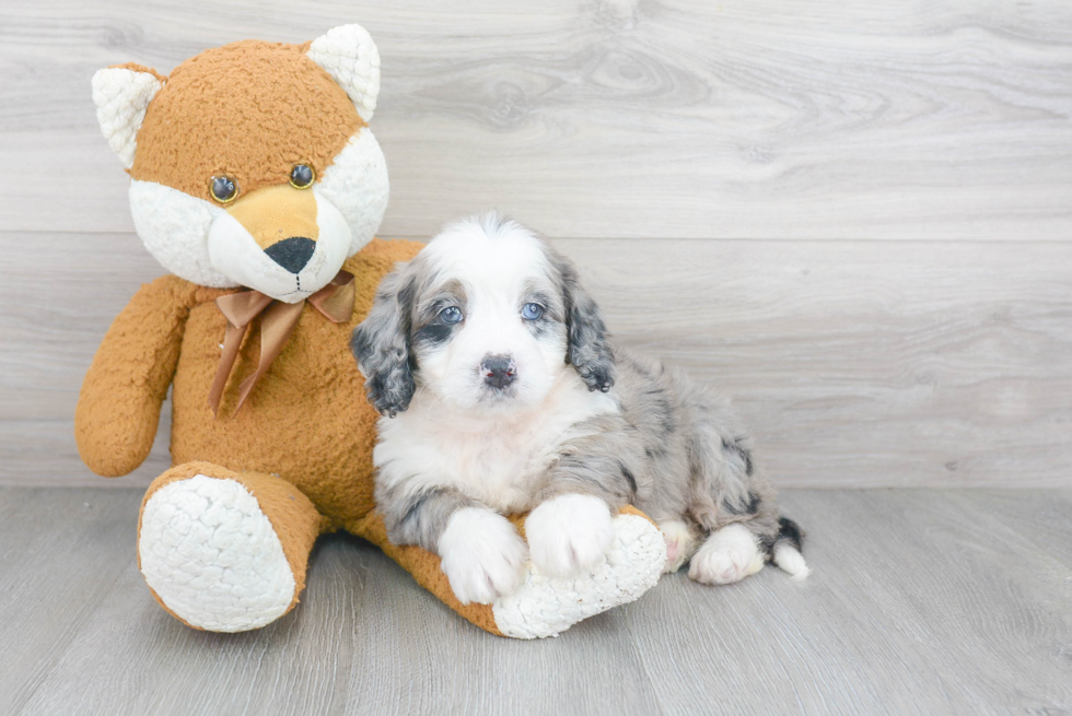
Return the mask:
[[147,283],[101,342],[74,412],[79,454],[97,474],[127,474],[149,455],[195,290],[173,275]]

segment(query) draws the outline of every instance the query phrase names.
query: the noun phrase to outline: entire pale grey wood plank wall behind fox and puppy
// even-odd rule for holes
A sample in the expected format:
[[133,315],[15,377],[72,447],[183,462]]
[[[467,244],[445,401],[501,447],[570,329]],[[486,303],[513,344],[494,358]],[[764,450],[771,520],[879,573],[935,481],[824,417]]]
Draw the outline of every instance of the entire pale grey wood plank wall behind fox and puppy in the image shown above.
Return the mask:
[[[162,272],[92,73],[360,22],[381,235],[499,207],[624,342],[735,396],[776,483],[1072,485],[1065,0],[43,0],[0,8],[0,483],[94,478],[72,413]],[[167,421],[162,421],[166,431]]]

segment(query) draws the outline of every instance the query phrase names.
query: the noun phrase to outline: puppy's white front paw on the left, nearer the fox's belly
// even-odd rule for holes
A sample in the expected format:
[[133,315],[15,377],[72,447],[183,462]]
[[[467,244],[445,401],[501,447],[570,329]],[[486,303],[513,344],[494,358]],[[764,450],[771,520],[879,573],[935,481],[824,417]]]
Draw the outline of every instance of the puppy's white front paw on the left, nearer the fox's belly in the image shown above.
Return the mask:
[[464,507],[446,523],[439,553],[458,601],[490,605],[521,586],[528,547],[505,517]]

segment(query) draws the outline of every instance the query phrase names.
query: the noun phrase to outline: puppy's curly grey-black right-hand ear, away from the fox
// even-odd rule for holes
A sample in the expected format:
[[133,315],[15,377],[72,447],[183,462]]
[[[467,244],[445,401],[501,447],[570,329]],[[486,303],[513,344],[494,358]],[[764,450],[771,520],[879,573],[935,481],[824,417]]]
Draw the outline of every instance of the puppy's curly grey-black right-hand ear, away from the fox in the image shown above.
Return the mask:
[[566,362],[573,365],[589,390],[607,392],[614,385],[616,371],[603,314],[592,296],[581,287],[573,263],[557,255],[555,265],[559,272],[566,308],[569,341]]

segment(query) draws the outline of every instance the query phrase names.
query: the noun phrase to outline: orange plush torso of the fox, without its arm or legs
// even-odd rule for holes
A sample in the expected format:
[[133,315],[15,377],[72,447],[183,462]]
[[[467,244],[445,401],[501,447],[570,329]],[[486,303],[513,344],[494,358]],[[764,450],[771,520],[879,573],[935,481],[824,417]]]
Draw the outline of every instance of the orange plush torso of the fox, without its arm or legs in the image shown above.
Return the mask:
[[[226,324],[211,303],[193,306],[172,396],[172,458],[207,460],[270,472],[293,482],[330,520],[331,528],[373,508],[372,447],[376,412],[364,397],[364,378],[350,355],[350,333],[372,306],[380,279],[420,248],[410,242],[373,240],[347,260],[354,279],[354,312],[333,324],[306,307],[268,373],[232,418],[238,386],[257,366],[257,325],[247,332],[212,418],[208,389]],[[212,292],[217,293],[217,292]]]

